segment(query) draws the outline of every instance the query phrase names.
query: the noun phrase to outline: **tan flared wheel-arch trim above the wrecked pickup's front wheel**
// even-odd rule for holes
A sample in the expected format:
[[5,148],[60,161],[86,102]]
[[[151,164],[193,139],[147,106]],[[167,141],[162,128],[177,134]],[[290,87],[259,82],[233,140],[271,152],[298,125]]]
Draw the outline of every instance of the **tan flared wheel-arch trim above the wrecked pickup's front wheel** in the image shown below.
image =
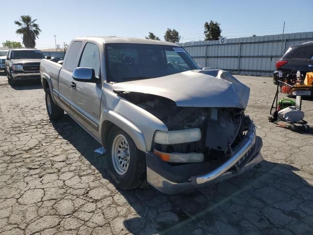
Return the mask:
[[[147,151],[147,146],[146,142],[144,139],[144,136],[142,132],[132,123],[130,120],[127,118],[119,115],[118,113],[109,110],[109,109],[104,109],[101,114],[100,118],[100,128],[99,130],[103,132],[103,136],[105,136],[105,133],[107,131],[106,124],[107,122],[111,122],[112,124],[118,126],[121,128],[123,131],[125,131],[134,141],[136,144],[137,148],[143,152]],[[105,144],[105,139],[104,137],[101,138],[102,144]]]

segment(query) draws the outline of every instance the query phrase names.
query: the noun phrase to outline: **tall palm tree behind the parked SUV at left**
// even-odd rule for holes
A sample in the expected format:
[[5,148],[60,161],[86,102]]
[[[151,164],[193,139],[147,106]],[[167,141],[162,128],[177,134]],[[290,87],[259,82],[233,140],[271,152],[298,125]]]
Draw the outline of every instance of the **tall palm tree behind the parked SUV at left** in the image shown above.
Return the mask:
[[36,45],[36,39],[41,30],[35,21],[37,20],[32,20],[30,16],[21,16],[20,20],[14,22],[14,24],[19,26],[16,33],[23,35],[23,44],[25,47],[35,47]]

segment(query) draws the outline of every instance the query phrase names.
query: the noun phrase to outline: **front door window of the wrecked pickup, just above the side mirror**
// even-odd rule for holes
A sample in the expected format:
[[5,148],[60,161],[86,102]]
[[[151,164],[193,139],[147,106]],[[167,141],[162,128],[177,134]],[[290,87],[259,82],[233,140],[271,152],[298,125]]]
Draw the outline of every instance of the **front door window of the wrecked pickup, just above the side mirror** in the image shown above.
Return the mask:
[[97,45],[86,44],[78,67],[92,68],[96,76],[100,74],[100,51]]

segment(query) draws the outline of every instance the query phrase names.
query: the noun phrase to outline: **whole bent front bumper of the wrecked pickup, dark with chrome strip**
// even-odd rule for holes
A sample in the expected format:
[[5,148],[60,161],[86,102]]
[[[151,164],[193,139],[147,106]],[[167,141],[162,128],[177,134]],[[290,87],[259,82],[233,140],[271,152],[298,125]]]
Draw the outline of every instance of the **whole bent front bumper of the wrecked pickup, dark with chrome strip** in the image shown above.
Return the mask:
[[170,165],[152,152],[146,152],[147,180],[157,190],[175,194],[190,188],[205,185],[237,176],[263,161],[260,153],[262,139],[255,134],[251,120],[244,139],[233,149],[230,158],[218,167],[210,162]]

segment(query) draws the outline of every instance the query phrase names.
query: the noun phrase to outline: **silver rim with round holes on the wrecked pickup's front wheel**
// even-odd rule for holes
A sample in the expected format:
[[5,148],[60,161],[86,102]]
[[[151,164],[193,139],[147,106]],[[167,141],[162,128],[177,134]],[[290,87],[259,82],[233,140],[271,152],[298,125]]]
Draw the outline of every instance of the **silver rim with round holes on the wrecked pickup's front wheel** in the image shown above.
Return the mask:
[[124,175],[128,169],[130,151],[125,136],[115,136],[112,143],[112,163],[114,170],[119,175]]

